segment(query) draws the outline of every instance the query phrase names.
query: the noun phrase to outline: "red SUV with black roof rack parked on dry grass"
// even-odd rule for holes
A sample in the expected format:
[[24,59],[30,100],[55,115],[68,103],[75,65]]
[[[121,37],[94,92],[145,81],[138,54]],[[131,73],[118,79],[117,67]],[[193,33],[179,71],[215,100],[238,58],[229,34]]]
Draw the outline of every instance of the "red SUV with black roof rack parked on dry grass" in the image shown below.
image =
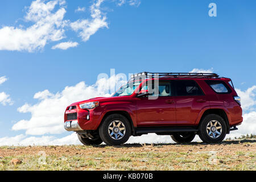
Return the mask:
[[221,142],[241,125],[241,99],[232,80],[215,73],[133,75],[112,97],[71,104],[64,127],[83,144],[118,145],[131,135],[171,135],[175,142]]

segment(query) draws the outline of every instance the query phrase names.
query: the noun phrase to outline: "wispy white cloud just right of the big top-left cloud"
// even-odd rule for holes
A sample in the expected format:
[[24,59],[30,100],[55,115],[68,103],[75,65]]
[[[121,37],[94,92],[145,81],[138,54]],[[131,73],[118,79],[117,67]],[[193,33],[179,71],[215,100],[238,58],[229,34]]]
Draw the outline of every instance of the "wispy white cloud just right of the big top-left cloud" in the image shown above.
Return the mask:
[[72,30],[79,32],[84,42],[88,41],[90,36],[95,34],[100,28],[108,28],[106,16],[102,15],[100,5],[104,0],[98,0],[90,6],[92,19],[79,19],[70,24]]

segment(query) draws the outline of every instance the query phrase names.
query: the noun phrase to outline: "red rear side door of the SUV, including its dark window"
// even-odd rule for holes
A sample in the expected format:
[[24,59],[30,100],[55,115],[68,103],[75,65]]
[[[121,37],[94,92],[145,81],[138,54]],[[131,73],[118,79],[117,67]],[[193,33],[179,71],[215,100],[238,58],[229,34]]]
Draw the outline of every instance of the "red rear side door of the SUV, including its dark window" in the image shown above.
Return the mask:
[[193,125],[209,101],[195,80],[175,80],[176,123]]

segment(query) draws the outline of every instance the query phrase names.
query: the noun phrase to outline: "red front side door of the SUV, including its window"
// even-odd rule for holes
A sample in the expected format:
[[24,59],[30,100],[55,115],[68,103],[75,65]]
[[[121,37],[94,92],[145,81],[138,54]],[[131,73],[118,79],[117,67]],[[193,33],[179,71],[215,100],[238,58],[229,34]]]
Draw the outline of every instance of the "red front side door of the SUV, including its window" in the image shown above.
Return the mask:
[[[148,85],[142,86],[148,89]],[[175,102],[172,97],[172,82],[159,80],[159,86],[151,97],[137,98],[138,127],[168,126],[175,124]],[[151,99],[151,98],[156,99]]]

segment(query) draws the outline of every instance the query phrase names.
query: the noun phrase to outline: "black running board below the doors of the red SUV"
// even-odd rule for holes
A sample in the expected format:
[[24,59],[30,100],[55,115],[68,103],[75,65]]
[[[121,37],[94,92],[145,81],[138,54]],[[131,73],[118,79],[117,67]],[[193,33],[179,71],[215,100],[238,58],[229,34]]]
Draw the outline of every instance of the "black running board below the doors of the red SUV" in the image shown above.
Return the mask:
[[197,132],[194,127],[137,127],[135,132],[142,133],[181,133],[181,132]]

